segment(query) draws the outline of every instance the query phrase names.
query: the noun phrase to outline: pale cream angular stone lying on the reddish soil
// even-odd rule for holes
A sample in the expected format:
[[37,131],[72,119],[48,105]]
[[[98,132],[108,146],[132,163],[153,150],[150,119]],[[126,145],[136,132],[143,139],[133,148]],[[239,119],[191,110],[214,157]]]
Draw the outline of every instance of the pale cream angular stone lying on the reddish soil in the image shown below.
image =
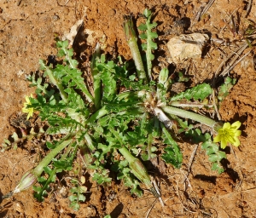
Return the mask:
[[167,48],[175,64],[189,58],[201,58],[202,49],[207,44],[207,34],[192,33],[172,37],[167,43]]

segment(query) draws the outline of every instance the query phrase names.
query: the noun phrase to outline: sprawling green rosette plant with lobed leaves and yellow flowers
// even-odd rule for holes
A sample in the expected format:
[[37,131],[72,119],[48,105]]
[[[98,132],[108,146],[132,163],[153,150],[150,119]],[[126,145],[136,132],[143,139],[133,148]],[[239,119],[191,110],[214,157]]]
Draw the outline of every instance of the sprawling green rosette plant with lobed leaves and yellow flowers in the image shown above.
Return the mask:
[[[132,194],[141,196],[140,186],[143,183],[155,197],[160,197],[143,161],[160,153],[166,164],[175,168],[182,166],[182,151],[172,137],[172,130],[176,134],[195,137],[197,143],[202,142],[202,148],[212,161],[212,169],[223,172],[220,160],[225,158],[225,153],[219,151],[217,143],[220,141],[223,148],[228,143],[238,146],[240,124],[218,122],[186,110],[188,106],[207,107],[204,100],[212,94],[207,83],[170,97],[173,81],[166,68],[153,81],[152,51],[157,49],[154,40],[158,35],[152,31],[157,24],[151,23],[151,15],[146,9],[146,22],[138,27],[142,31],[140,37],[144,40],[146,63],[143,63],[138,49],[131,16],[125,17],[125,37],[136,69],[128,71],[123,60],[119,63],[107,60],[105,54],[100,54],[100,47],[96,46],[90,65],[93,93],[90,93],[67,41],[56,43],[58,64],[53,66],[44,60],[39,61],[41,72],[27,77],[31,86],[37,88],[36,94],[26,97],[23,112],[27,113],[27,118],[37,112],[49,124],[42,134],[59,135],[60,139],[46,141],[49,152],[38,166],[21,178],[12,193],[23,191],[38,181],[38,186],[33,187],[34,196],[39,201],[44,200],[51,183],[56,180],[56,174],[68,175],[68,171],[73,170],[74,161],[80,158],[83,168],[88,169],[92,180],[100,185],[108,185],[114,179],[110,174],[113,171],[116,179],[124,181]],[[212,135],[201,134],[201,130],[195,129],[189,120],[207,125],[218,135],[212,141]],[[32,130],[30,134],[34,136]],[[26,139],[31,138],[26,136]],[[15,135],[15,143],[18,142]],[[9,147],[10,144],[10,141],[5,141],[3,146]],[[160,148],[162,146],[163,149]],[[78,180],[73,178],[73,181]],[[84,202],[84,190],[75,182],[69,197],[73,209],[79,209],[79,203]]]

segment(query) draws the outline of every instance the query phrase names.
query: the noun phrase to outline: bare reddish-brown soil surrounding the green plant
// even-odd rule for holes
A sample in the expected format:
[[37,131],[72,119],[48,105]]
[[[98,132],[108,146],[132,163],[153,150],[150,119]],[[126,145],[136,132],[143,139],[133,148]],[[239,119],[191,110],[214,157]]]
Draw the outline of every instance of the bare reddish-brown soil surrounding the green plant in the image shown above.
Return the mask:
[[[25,75],[38,70],[38,60],[55,54],[55,37],[62,37],[70,31],[77,20],[84,20],[82,32],[74,44],[77,57],[84,72],[89,71],[90,54],[100,41],[105,52],[122,55],[130,59],[131,54],[125,42],[123,15],[133,14],[140,20],[146,7],[154,11],[153,19],[158,23],[160,35],[160,64],[166,65],[168,51],[165,43],[171,37],[174,21],[186,18],[190,21],[187,32],[207,32],[211,37],[228,39],[222,45],[209,43],[203,59],[189,60],[177,66],[185,69],[193,83],[212,83],[220,63],[236,48],[244,37],[244,30],[250,20],[255,20],[254,1],[216,0],[201,21],[195,21],[200,7],[207,1],[186,0],[2,0],[0,2],[0,141],[8,138],[15,129],[9,118],[21,110],[24,98],[32,93]],[[252,9],[247,14],[248,3]],[[231,32],[230,15],[236,20],[237,30]],[[226,22],[224,21],[226,20]],[[246,54],[250,49],[246,49]],[[256,72],[254,52],[241,61],[231,72],[237,83],[226,97],[219,110],[224,121],[240,120],[242,123],[241,146],[227,147],[225,172],[217,175],[211,171],[201,146],[195,152],[194,162],[188,178],[188,164],[195,144],[180,143],[183,150],[183,166],[173,169],[171,165],[159,163],[151,174],[160,182],[162,198],[166,207],[156,201],[149,217],[256,217],[255,146],[256,146]],[[154,72],[157,73],[155,67]],[[86,78],[85,78],[86,79]],[[31,153],[26,146],[17,151],[0,153],[0,192],[6,194],[14,189],[21,176],[38,162],[37,152]],[[158,173],[156,173],[158,172]],[[145,217],[153,205],[154,198],[145,191],[143,198],[131,197],[122,183],[114,182],[103,188],[89,183],[86,202],[74,212],[68,208],[68,199],[55,188],[43,204],[32,198],[32,190],[0,201],[0,217]]]

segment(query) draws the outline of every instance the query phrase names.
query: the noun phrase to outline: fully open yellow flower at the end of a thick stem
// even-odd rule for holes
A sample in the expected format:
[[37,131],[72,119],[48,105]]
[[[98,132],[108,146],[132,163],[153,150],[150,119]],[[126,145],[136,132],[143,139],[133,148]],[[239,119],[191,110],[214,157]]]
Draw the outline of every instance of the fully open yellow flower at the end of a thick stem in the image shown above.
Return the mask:
[[228,143],[233,146],[240,146],[238,136],[241,135],[241,130],[238,130],[241,126],[241,122],[236,121],[233,124],[224,123],[223,128],[218,129],[218,135],[213,139],[214,142],[220,141],[220,147],[225,148]]

